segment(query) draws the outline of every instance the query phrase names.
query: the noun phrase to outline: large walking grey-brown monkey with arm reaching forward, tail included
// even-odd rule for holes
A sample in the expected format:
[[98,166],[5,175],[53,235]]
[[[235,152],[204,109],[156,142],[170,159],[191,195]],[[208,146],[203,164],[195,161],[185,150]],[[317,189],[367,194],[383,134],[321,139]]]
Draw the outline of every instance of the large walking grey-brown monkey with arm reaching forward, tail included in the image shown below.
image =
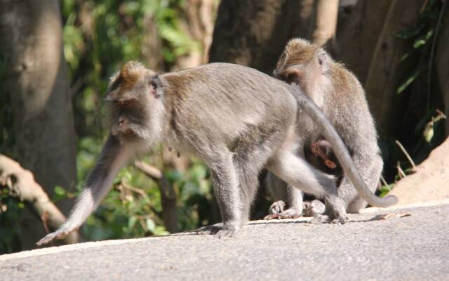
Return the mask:
[[213,63],[155,74],[131,62],[112,79],[106,100],[111,134],[100,160],[67,222],[37,244],[79,228],[128,159],[160,142],[201,157],[209,167],[223,226],[203,229],[206,233],[232,236],[246,223],[264,167],[290,185],[325,198],[330,219],[346,221],[333,177],[297,157],[297,127],[302,126],[298,108],[316,122],[370,204],[396,202],[395,197],[375,197],[368,190],[340,136],[312,100],[296,86],[257,70]]

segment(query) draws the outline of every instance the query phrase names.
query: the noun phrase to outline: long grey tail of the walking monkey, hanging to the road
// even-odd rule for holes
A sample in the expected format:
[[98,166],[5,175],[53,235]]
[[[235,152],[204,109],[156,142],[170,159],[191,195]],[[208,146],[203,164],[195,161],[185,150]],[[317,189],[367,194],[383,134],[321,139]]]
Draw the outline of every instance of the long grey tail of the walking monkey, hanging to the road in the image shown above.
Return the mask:
[[306,96],[300,89],[295,87],[293,89],[299,109],[304,110],[316,124],[321,128],[321,133],[323,133],[326,140],[330,143],[333,148],[338,161],[342,164],[342,168],[345,174],[351,180],[358,194],[363,197],[371,206],[375,207],[389,207],[398,202],[398,198],[394,195],[388,195],[386,197],[377,197],[368,188],[366,183],[363,181],[360,173],[354,164],[346,145],[344,145],[342,138],[335,131],[334,126],[330,123],[329,119],[324,115],[324,113],[319,109],[319,107],[314,103],[311,98]]

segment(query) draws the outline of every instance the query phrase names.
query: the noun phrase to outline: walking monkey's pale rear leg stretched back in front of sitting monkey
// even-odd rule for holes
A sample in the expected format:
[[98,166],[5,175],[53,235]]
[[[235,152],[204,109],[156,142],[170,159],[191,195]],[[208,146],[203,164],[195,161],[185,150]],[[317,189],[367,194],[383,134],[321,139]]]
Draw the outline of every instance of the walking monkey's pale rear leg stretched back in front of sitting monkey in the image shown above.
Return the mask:
[[315,222],[347,221],[346,210],[337,195],[333,176],[314,169],[304,159],[287,150],[280,150],[269,162],[268,169],[295,188],[324,198],[326,215],[318,215]]

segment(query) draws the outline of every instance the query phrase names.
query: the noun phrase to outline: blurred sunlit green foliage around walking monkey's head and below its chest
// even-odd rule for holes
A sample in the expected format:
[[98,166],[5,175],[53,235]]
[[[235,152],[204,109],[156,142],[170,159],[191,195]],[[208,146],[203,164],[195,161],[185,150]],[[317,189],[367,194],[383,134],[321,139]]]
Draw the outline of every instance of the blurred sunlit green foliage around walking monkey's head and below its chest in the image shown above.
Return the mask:
[[[162,42],[161,54],[155,55],[163,56],[166,67],[170,67],[178,56],[197,47],[196,42],[184,34],[178,25],[181,5],[180,0],[64,1],[64,51],[73,81],[79,136],[78,192],[88,171],[93,168],[107,134],[106,126],[101,121],[106,114],[101,97],[107,89],[108,79],[124,61],[143,60],[141,50],[142,44],[145,44],[145,17],[154,19],[152,22],[156,24],[157,36]],[[210,205],[210,182],[206,168],[192,160],[192,165],[184,172],[170,169],[164,166],[161,149],[144,159],[162,169],[178,193],[180,230],[195,228],[201,224],[199,218],[203,216],[199,214],[199,209],[208,209]],[[189,204],[192,201],[201,204],[201,207],[195,204],[192,207]],[[203,222],[208,221],[206,216]],[[159,188],[133,166],[121,171],[112,192],[83,227],[83,235],[89,240],[166,233],[161,220]]]

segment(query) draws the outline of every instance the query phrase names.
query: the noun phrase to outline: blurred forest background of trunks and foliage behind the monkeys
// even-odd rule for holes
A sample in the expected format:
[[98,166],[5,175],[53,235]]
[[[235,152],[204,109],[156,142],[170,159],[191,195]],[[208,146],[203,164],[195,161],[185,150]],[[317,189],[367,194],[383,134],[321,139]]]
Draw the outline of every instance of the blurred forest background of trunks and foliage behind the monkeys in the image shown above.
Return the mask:
[[[449,132],[447,2],[2,0],[0,254],[33,249],[64,221],[108,133],[109,77],[127,60],[157,72],[220,61],[272,74],[289,39],[325,46],[366,89],[384,195],[418,173]],[[435,171],[434,185],[444,186],[445,169]],[[272,202],[261,183],[254,219]],[[60,243],[166,235],[218,221],[206,166],[160,146],[123,169],[79,236]]]

